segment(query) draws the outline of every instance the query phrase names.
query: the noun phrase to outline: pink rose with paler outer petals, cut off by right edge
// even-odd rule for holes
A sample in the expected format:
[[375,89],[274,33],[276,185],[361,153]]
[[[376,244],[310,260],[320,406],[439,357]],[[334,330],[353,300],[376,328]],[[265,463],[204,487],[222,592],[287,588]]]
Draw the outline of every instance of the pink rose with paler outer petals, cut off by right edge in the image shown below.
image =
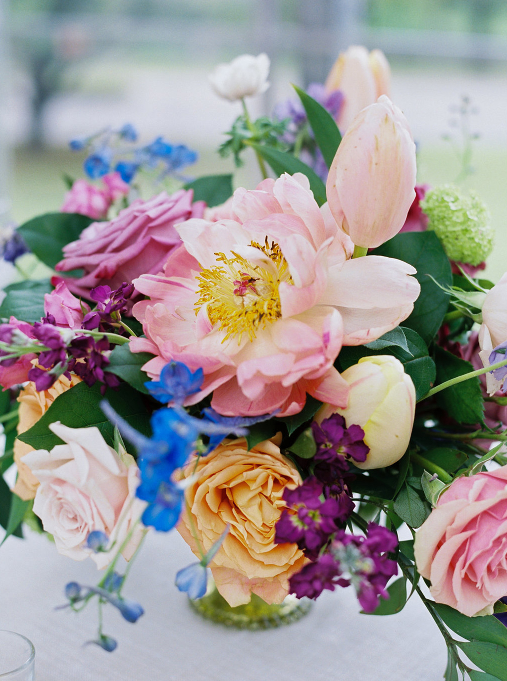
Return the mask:
[[417,569],[431,595],[472,617],[507,594],[507,466],[459,477],[416,533]]

